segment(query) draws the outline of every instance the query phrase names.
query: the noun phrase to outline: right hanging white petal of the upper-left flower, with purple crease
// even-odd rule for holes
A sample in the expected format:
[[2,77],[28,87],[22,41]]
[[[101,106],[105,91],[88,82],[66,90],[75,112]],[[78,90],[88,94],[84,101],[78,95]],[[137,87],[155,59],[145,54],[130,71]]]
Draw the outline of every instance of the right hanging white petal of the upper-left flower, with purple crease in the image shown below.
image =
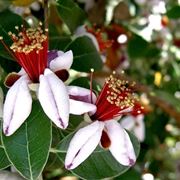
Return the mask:
[[60,128],[69,121],[69,97],[64,83],[49,69],[40,76],[39,101],[47,116]]

